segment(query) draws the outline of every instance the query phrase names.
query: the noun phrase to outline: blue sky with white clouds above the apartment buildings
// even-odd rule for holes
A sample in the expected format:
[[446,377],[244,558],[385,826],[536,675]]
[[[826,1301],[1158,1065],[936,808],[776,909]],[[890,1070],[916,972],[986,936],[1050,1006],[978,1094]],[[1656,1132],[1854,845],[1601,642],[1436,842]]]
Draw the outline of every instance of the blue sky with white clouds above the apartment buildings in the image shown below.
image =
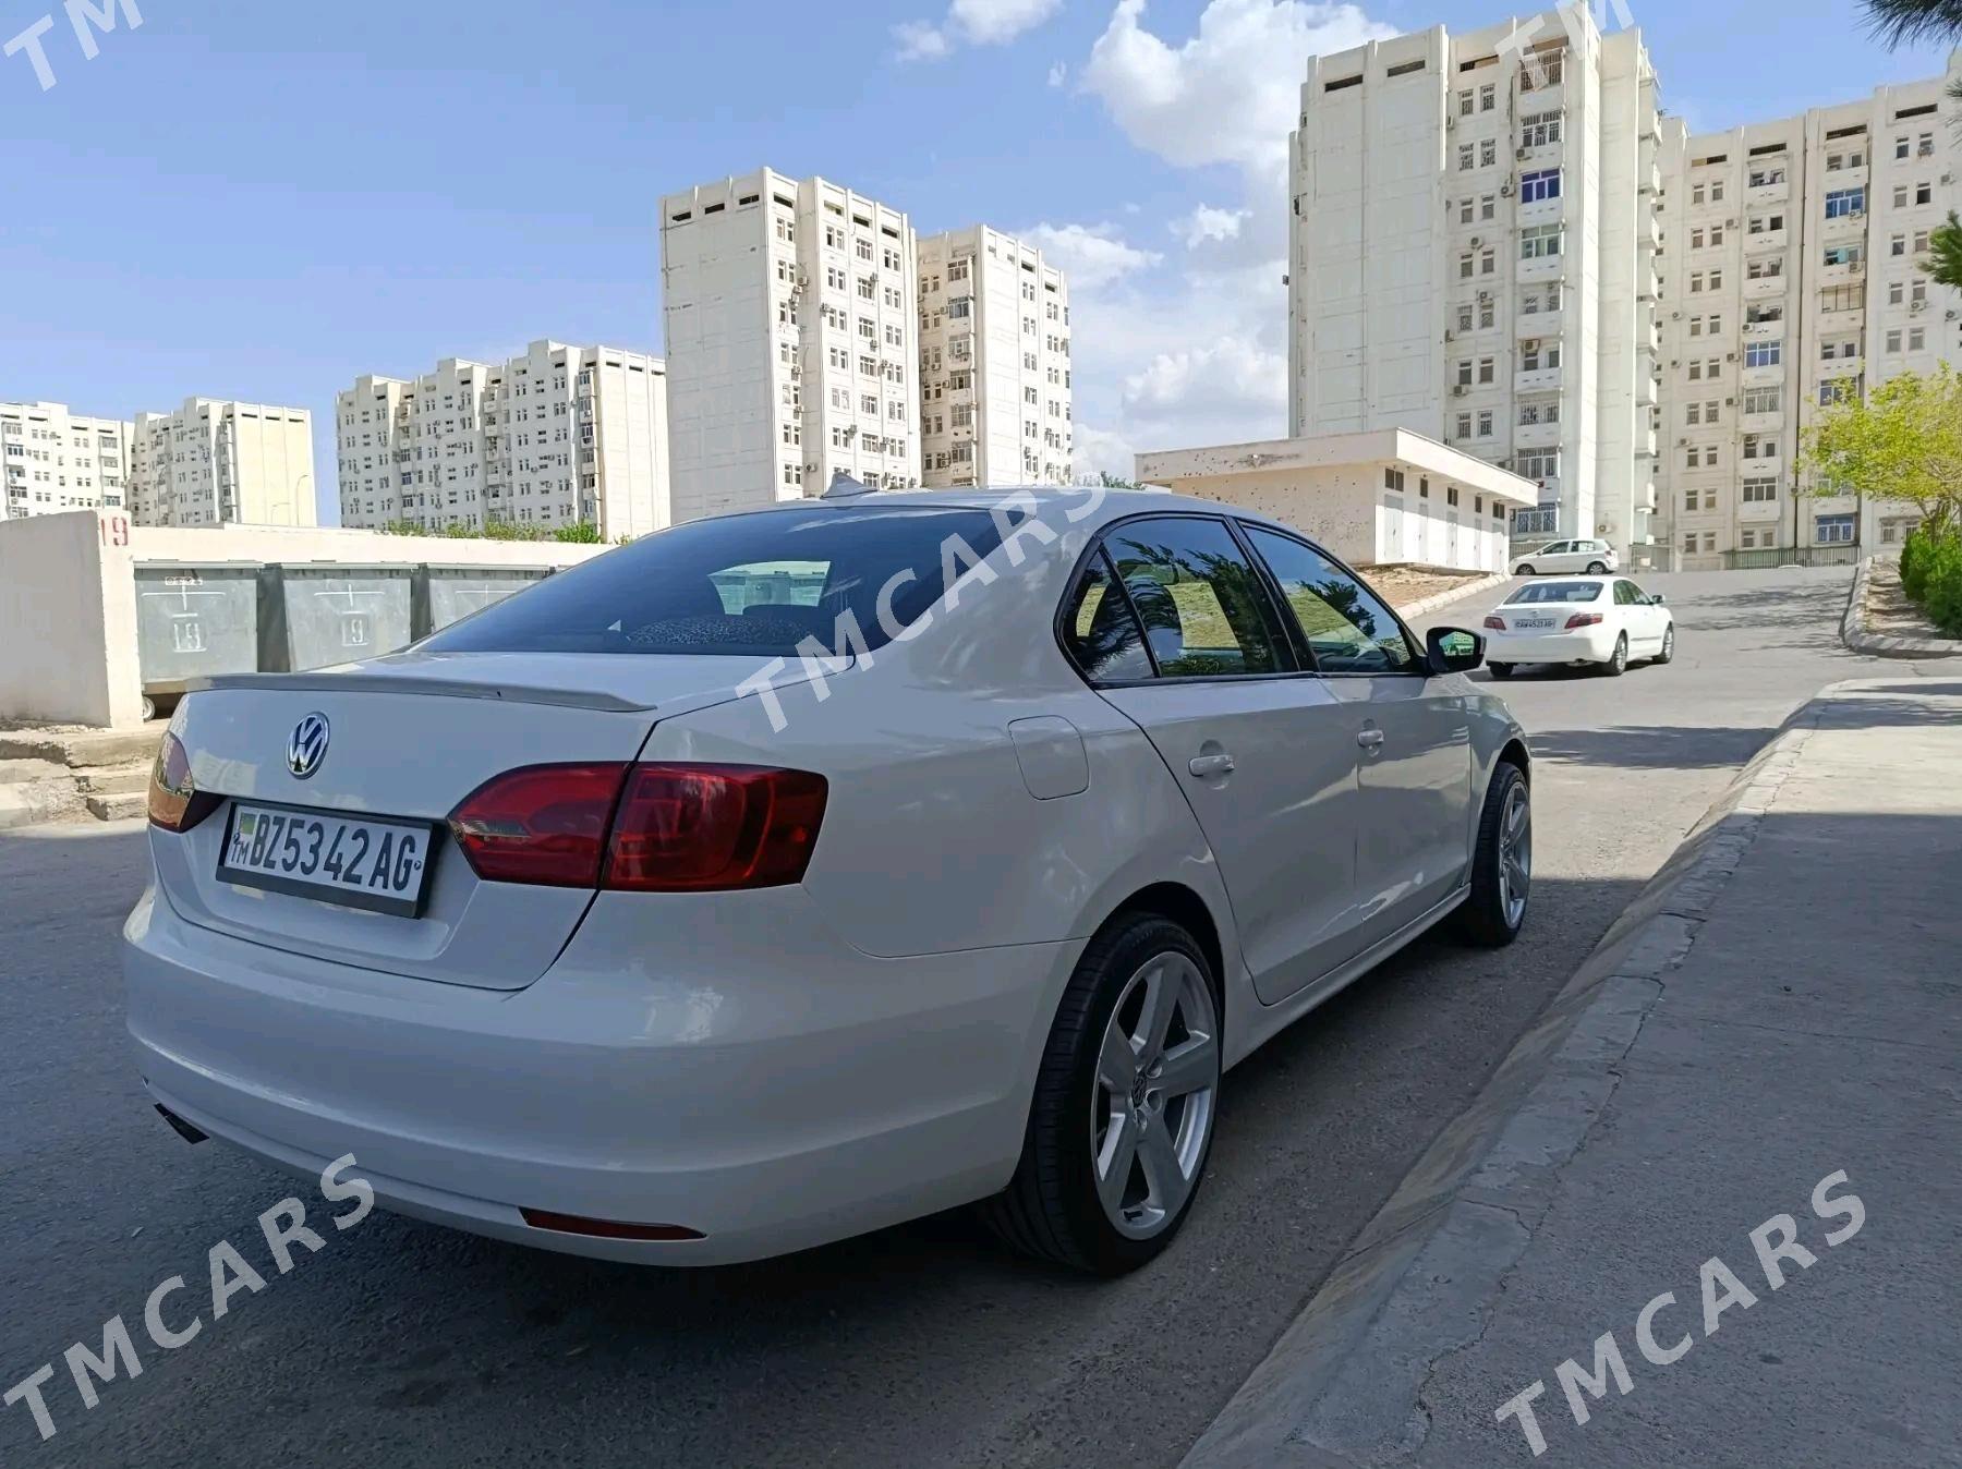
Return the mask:
[[[761,163],[922,231],[1036,233],[1073,273],[1087,465],[1281,433],[1301,59],[1503,18],[1458,0],[137,2],[141,27],[84,61],[59,0],[0,0],[0,43],[55,20],[51,90],[26,53],[0,63],[0,398],[302,404],[324,502],[334,392],[359,373],[545,335],[659,351],[655,200]],[[1628,2],[1691,127],[1942,67],[1874,45],[1852,0]]]

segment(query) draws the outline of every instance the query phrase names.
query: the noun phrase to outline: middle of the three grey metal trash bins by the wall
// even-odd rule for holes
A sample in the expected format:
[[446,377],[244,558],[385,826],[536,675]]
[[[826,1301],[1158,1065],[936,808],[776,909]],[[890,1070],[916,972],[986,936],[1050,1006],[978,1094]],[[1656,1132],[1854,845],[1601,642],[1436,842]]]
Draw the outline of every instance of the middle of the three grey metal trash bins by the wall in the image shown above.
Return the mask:
[[259,571],[259,667],[300,673],[408,647],[410,567],[269,565]]

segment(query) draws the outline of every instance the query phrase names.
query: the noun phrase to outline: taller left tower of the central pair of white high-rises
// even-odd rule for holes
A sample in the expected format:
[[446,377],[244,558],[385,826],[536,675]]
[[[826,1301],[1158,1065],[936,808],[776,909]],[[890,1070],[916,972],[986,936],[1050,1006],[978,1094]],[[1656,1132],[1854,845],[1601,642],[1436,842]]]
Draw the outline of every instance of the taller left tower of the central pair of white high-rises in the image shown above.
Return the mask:
[[675,520],[920,482],[912,224],[761,169],[661,200]]

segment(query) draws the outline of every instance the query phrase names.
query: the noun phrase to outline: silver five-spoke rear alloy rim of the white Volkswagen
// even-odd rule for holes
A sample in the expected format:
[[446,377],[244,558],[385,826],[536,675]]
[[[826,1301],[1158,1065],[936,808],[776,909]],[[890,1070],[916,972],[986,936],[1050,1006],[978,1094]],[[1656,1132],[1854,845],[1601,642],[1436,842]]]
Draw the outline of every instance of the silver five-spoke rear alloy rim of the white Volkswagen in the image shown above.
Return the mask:
[[1177,951],[1146,959],[1105,1026],[1091,1169],[1105,1218],[1150,1240],[1179,1216],[1207,1155],[1220,1049],[1213,988]]

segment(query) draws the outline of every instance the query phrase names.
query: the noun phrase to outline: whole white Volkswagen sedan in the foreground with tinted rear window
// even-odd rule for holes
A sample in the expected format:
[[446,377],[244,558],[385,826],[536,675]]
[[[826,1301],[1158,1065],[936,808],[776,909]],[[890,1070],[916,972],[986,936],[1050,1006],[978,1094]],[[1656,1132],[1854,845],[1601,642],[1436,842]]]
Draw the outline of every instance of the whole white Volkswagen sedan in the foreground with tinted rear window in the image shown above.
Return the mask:
[[530,1245],[706,1265],[989,1200],[1124,1271],[1226,1067],[1446,916],[1519,932],[1477,661],[1169,494],[685,524],[184,698],[141,1073],[194,1140]]

